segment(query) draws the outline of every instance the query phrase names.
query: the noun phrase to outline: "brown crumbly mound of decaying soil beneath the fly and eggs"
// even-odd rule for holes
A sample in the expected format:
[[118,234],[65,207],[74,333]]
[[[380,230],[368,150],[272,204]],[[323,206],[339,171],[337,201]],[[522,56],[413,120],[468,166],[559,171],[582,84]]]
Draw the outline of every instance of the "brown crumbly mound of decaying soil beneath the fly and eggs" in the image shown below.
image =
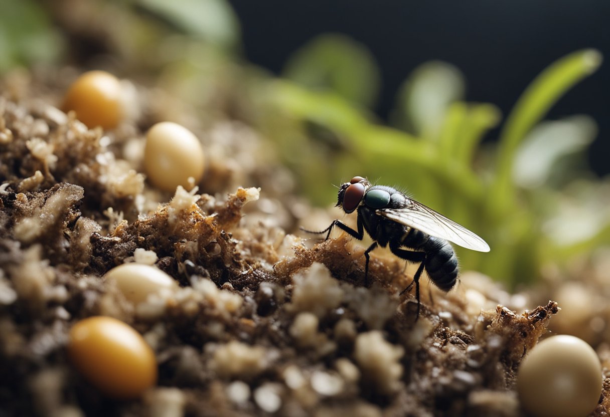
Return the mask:
[[[210,193],[169,196],[125,137],[40,101],[0,99],[0,122],[0,415],[522,415],[515,372],[555,302],[515,313],[487,278],[464,274],[447,294],[422,279],[416,321],[403,262],[375,254],[363,287],[364,249],[290,234],[295,198],[271,179],[223,188],[243,174],[216,160]],[[103,278],[124,262],[179,285],[134,305]],[[155,352],[141,399],[104,396],[68,360],[71,326],[93,315]]]

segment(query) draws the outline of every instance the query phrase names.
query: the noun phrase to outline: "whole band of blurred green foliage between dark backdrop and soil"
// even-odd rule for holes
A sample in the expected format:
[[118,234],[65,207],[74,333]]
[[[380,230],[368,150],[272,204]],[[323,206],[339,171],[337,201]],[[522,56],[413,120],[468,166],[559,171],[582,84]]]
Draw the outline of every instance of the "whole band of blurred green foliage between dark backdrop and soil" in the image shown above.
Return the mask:
[[[47,16],[62,8],[41,4],[0,0],[0,73],[62,57],[65,35]],[[464,76],[448,63],[415,69],[398,91],[393,127],[384,126],[368,110],[379,71],[359,43],[319,37],[277,79],[234,59],[239,24],[226,0],[168,4],[91,1],[79,13],[100,19],[108,52],[123,68],[154,74],[176,94],[174,104],[198,109],[201,123],[255,124],[315,203],[334,202],[332,184],[354,175],[402,188],[488,241],[489,254],[456,248],[465,269],[508,283],[530,282],[547,262],[610,244],[610,184],[591,179],[582,158],[594,121],[543,121],[565,91],[597,70],[599,52],[576,51],[542,71],[509,113],[497,146],[482,147],[500,111],[465,102]]]

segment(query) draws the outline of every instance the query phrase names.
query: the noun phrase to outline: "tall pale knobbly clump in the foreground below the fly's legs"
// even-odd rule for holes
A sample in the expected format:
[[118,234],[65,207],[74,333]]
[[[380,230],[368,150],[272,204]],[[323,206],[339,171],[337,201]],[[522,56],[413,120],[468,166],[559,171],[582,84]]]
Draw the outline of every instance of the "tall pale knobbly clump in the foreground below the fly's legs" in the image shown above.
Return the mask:
[[382,394],[400,388],[403,355],[404,349],[386,341],[378,330],[359,334],[354,345],[354,358],[362,369],[362,377]]

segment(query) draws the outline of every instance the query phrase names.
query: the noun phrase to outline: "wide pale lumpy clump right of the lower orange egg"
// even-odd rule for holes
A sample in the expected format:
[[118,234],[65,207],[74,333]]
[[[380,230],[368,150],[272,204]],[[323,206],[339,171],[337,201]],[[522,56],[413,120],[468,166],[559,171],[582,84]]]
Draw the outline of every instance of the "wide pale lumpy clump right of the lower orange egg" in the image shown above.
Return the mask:
[[253,377],[267,367],[265,349],[230,341],[217,347],[210,367],[221,377]]

